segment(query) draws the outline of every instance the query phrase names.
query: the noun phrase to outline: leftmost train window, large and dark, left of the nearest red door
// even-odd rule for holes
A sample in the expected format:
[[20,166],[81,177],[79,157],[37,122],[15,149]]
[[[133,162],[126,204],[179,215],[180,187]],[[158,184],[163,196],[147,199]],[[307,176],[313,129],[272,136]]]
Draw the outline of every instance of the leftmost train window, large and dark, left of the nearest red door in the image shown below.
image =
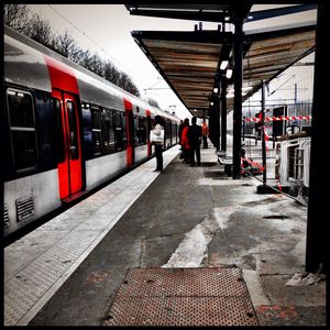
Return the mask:
[[36,134],[31,94],[7,90],[10,133],[15,170],[34,168],[36,165]]

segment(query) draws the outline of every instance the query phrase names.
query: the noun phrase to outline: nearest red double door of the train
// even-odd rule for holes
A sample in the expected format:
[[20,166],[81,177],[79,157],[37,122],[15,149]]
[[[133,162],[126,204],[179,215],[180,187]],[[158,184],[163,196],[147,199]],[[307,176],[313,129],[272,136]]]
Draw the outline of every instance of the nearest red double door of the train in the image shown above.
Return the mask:
[[82,188],[81,143],[76,98],[59,90],[53,90],[55,111],[59,112],[59,141],[63,153],[58,160],[59,197],[65,199]]

